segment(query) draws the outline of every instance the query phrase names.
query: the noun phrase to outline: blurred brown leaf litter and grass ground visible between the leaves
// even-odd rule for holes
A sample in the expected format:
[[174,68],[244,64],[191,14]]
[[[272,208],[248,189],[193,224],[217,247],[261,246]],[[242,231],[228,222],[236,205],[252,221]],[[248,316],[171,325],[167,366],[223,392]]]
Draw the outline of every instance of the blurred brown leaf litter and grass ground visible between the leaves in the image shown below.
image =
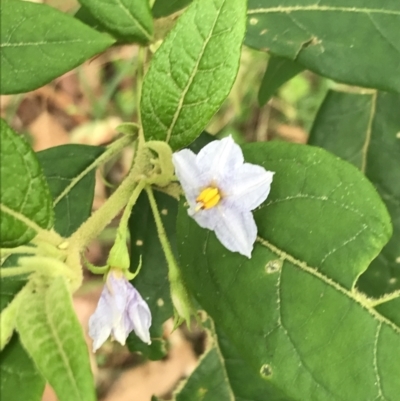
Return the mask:
[[[45,3],[62,11],[74,12],[73,0]],[[90,60],[55,81],[27,94],[2,96],[1,116],[24,134],[35,151],[79,143],[106,145],[123,121],[137,121],[135,98],[136,46],[119,46]],[[277,96],[262,107],[257,92],[267,56],[244,48],[235,86],[207,131],[223,137],[232,134],[238,143],[281,139],[305,143],[307,133],[328,87],[328,80],[304,72],[281,87]],[[127,173],[131,152],[126,150],[97,172],[93,209],[99,208]],[[94,241],[87,258],[104,264],[117,222]],[[85,332],[93,313],[102,280],[86,273],[83,287],[74,296],[74,306]],[[143,362],[127,348],[108,342],[95,355],[92,369],[102,401],[147,401],[152,394],[170,399],[179,381],[195,369],[206,344],[205,335],[194,328],[170,334],[172,322],[165,325],[169,351],[161,361]],[[88,339],[88,346],[90,340]],[[43,401],[56,400],[46,388]]]

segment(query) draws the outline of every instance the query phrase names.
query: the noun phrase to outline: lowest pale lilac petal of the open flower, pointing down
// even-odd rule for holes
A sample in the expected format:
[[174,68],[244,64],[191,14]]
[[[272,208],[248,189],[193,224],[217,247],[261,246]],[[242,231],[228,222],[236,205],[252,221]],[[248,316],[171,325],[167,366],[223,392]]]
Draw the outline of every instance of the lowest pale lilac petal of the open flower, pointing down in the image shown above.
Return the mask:
[[241,212],[231,207],[217,207],[219,219],[215,234],[227,249],[251,257],[257,238],[257,226],[250,211]]

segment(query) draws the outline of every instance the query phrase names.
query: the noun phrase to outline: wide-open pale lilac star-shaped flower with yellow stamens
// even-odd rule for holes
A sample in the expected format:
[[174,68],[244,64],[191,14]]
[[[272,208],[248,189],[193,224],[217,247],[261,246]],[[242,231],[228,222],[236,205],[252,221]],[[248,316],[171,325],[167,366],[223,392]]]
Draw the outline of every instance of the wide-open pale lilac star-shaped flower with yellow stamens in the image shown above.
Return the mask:
[[209,143],[198,155],[189,149],[176,152],[172,162],[189,215],[201,227],[215,231],[230,251],[250,258],[257,237],[251,210],[267,198],[274,173],[244,163],[231,136]]

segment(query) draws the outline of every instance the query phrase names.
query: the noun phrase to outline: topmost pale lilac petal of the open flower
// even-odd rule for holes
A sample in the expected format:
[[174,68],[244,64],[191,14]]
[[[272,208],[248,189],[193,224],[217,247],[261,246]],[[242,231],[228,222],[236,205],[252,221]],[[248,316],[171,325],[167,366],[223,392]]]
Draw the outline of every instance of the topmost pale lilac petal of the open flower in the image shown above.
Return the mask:
[[216,185],[243,164],[243,153],[229,135],[219,141],[210,142],[200,150],[196,158],[198,169],[207,185]]

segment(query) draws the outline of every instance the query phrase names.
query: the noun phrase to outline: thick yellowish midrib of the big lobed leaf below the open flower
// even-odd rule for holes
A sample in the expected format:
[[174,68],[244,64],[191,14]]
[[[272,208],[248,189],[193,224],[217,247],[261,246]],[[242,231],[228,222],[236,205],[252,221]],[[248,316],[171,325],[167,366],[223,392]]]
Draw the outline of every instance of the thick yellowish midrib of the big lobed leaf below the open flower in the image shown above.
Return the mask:
[[344,288],[340,284],[336,283],[329,277],[325,276],[321,272],[318,271],[315,267],[308,266],[306,262],[300,261],[296,259],[294,256],[286,253],[285,251],[279,249],[275,245],[271,244],[266,239],[257,236],[257,242],[261,245],[268,248],[270,251],[275,253],[278,257],[282,258],[283,260],[287,260],[293,265],[297,266],[301,270],[305,271],[308,274],[318,278],[319,280],[323,281],[325,284],[329,285],[330,287],[334,288],[336,291],[339,291],[343,295],[347,296],[348,298],[352,299],[354,302],[361,305],[365,310],[369,312],[369,314],[378,322],[385,323],[390,326],[397,334],[400,334],[400,327],[397,326],[395,323],[387,319],[386,317],[382,316],[376,309],[370,306],[368,303],[368,298],[363,295],[362,293],[356,291],[349,291],[348,289]]

